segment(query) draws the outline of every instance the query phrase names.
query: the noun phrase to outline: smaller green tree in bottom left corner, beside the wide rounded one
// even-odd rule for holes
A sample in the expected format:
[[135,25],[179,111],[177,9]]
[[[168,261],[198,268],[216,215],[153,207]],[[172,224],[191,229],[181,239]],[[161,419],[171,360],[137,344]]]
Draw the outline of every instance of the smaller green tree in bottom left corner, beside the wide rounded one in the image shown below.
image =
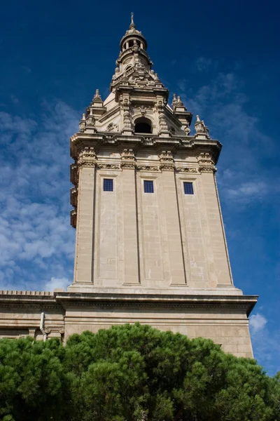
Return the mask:
[[61,419],[63,396],[69,390],[62,365],[64,354],[59,340],[0,340],[1,420]]

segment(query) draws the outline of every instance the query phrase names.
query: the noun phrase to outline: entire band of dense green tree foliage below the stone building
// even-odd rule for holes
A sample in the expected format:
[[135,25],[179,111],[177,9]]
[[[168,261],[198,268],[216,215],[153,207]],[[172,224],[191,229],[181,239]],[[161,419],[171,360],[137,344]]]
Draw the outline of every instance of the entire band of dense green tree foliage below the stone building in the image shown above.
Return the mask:
[[279,421],[280,375],[150,326],[0,340],[3,421]]

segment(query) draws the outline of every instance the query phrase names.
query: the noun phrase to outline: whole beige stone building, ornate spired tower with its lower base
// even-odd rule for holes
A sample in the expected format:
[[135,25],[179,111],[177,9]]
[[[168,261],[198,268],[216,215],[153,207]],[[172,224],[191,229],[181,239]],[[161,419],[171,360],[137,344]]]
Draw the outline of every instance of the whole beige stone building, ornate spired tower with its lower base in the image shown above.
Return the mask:
[[0,292],[0,337],[64,340],[140,321],[252,356],[257,297],[232,283],[215,178],[221,143],[199,116],[190,134],[192,114],[176,95],[168,105],[146,48],[132,16],[111,93],[102,101],[96,91],[71,138],[73,283]]

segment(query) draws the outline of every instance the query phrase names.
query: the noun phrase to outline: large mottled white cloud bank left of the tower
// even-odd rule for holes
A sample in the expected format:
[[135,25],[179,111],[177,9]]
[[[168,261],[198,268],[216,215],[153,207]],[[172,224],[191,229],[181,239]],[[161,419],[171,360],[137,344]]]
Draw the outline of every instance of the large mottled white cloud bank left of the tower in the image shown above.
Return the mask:
[[75,232],[69,224],[69,136],[78,115],[44,103],[36,119],[0,113],[0,287],[71,283]]

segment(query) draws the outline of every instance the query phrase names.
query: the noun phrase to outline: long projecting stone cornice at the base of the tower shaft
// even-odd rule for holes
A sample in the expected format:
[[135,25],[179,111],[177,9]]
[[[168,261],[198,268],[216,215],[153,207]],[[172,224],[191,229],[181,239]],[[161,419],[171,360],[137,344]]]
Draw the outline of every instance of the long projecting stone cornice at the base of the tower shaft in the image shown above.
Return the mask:
[[67,307],[168,307],[181,309],[243,309],[251,313],[258,295],[167,295],[147,293],[68,293],[0,291],[0,307],[66,309]]

